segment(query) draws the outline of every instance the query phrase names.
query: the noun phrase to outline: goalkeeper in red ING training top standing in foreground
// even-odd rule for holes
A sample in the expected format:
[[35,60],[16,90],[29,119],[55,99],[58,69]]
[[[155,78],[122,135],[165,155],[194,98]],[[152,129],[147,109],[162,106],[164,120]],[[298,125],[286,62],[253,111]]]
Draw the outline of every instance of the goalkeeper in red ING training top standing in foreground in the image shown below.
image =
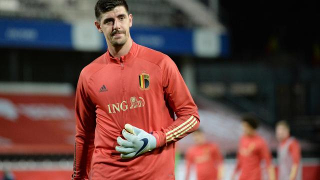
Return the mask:
[[133,42],[125,0],[94,9],[108,48],[79,75],[72,178],[174,179],[174,142],[197,129],[197,107],[174,62]]

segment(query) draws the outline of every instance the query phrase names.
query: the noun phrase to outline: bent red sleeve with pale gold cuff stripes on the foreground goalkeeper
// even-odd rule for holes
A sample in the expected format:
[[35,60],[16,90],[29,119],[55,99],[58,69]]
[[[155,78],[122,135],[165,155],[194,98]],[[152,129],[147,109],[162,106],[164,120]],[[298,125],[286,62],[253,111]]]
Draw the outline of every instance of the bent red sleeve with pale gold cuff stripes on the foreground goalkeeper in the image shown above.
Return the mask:
[[162,87],[164,97],[177,118],[169,126],[153,132],[157,147],[175,142],[199,126],[197,107],[178,68],[169,57],[162,65]]

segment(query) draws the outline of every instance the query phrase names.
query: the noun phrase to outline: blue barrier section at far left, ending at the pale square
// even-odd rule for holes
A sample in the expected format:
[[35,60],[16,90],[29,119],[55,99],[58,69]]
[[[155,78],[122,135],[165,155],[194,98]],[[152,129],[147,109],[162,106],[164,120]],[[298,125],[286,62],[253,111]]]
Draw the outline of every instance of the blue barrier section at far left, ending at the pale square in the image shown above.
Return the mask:
[[60,21],[0,19],[0,46],[72,49],[70,29]]

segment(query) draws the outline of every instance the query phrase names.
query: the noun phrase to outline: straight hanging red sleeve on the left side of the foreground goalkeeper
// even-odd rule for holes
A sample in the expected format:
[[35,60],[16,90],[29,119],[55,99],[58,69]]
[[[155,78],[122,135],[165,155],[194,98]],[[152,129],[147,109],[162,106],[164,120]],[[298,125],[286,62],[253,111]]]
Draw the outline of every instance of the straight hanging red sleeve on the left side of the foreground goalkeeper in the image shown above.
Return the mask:
[[75,94],[76,134],[72,180],[88,179],[93,152],[95,129],[95,106],[89,94],[88,84],[80,73]]

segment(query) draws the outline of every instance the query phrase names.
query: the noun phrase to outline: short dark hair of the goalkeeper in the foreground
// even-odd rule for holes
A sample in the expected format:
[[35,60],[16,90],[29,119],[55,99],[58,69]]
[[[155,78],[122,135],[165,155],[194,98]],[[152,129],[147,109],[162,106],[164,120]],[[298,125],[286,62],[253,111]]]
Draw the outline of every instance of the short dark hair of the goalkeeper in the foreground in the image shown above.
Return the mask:
[[129,13],[129,7],[125,0],[98,0],[94,6],[95,18],[100,20],[100,15],[112,10],[114,7],[122,5]]

